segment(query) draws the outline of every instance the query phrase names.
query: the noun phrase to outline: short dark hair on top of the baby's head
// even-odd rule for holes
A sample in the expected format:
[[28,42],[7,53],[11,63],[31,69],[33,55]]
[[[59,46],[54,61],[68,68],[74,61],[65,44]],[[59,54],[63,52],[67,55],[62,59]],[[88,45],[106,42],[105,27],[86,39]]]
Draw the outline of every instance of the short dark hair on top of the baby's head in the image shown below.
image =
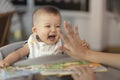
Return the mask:
[[57,7],[51,6],[51,5],[45,5],[41,6],[38,8],[34,13],[33,13],[33,23],[35,23],[35,20],[38,18],[38,16],[42,13],[50,13],[54,15],[60,15],[59,9]]

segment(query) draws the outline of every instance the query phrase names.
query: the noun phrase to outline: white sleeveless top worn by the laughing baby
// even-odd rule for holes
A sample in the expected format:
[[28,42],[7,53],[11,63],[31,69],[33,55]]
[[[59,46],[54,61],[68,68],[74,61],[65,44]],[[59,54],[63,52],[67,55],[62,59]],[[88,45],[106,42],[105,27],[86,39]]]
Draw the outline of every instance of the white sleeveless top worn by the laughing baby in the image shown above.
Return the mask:
[[36,39],[36,36],[31,34],[28,39],[28,47],[30,49],[28,58],[60,54],[61,51],[58,50],[58,48],[61,46],[61,44],[61,39],[56,44],[46,44],[44,42],[39,42]]

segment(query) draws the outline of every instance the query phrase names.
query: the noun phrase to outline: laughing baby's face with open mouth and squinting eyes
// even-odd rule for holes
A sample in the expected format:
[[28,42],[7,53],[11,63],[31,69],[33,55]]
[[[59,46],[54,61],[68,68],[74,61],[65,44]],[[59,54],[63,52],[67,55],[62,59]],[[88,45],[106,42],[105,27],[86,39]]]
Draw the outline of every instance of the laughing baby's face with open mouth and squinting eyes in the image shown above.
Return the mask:
[[41,14],[37,26],[33,28],[40,41],[55,44],[59,40],[58,30],[61,29],[61,16],[49,13]]

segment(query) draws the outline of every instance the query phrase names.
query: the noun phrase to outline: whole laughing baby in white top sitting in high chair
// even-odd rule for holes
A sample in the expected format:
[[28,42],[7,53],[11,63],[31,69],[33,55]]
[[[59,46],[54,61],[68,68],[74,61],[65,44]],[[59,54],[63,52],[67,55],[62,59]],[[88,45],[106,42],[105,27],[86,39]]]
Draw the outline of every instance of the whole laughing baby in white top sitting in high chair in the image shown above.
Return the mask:
[[[58,35],[61,24],[61,14],[56,7],[43,6],[37,9],[33,14],[33,33],[27,43],[0,61],[0,67],[12,65],[25,56],[36,58],[61,54],[58,49],[62,44]],[[85,44],[83,43],[83,45]]]

